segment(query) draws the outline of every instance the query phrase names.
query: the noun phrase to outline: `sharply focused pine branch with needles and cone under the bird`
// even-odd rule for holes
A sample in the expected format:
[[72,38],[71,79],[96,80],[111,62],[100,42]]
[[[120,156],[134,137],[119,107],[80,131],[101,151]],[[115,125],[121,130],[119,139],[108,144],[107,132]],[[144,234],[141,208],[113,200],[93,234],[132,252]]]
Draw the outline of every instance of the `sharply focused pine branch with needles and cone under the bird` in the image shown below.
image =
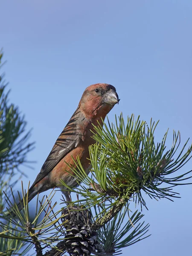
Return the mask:
[[[53,191],[40,202],[37,196],[35,218],[30,219],[28,194],[23,188],[19,196],[24,201],[21,212],[13,193],[13,203],[5,194],[16,217],[2,215],[9,224],[1,222],[0,237],[32,244],[37,256],[89,256],[118,255],[123,247],[150,236],[149,224],[144,223],[140,212],[147,207],[143,194],[172,200],[178,197],[173,189],[188,184],[192,172],[180,173],[192,157],[189,140],[180,149],[180,133],[173,131],[173,143],[167,149],[168,131],[160,143],[155,143],[157,124],[151,119],[148,125],[140,117],[134,119],[134,115],[125,121],[121,114],[115,124],[107,120],[103,127],[93,126],[96,143],[89,148],[90,175],[77,160],[76,169],[71,169],[79,186],[69,187],[61,181],[77,194],[77,200],[66,205],[63,199],[61,209],[55,211]],[[129,210],[132,204],[138,208],[134,213]]]

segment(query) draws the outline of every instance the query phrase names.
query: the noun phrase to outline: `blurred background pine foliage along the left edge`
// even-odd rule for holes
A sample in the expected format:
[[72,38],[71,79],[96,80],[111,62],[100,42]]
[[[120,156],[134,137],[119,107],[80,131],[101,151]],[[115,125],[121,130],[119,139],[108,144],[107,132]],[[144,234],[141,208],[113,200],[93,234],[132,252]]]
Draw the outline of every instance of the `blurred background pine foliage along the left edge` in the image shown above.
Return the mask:
[[[3,65],[2,58],[3,52],[0,51],[0,68]],[[25,175],[20,166],[30,165],[27,154],[34,145],[28,143],[31,131],[26,132],[24,116],[15,105],[9,104],[7,87],[4,74],[0,75],[0,212],[6,207],[6,197],[11,196],[11,187],[14,188],[17,181]],[[8,256],[18,252],[25,255],[32,247],[23,241],[23,233],[17,224],[0,220],[0,234],[3,234],[0,238],[0,255]],[[16,236],[18,239],[9,239],[9,236]]]

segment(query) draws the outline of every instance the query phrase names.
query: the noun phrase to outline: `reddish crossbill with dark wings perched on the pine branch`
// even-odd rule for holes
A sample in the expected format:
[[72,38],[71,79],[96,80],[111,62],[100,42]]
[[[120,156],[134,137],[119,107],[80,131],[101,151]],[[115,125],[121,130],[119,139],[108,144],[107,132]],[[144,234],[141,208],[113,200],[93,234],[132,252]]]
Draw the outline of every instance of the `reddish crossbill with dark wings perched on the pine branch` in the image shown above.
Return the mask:
[[[59,187],[66,201],[70,202],[70,194],[65,186],[78,186],[77,179],[70,168],[76,168],[74,160],[79,157],[81,165],[89,174],[91,165],[89,160],[89,146],[95,143],[92,138],[93,125],[103,125],[105,116],[115,104],[119,103],[116,88],[111,84],[92,84],[88,86],[81,97],[76,111],[59,135],[41,171],[28,191],[28,202],[38,193]],[[23,208],[23,201],[17,204],[19,211]]]

